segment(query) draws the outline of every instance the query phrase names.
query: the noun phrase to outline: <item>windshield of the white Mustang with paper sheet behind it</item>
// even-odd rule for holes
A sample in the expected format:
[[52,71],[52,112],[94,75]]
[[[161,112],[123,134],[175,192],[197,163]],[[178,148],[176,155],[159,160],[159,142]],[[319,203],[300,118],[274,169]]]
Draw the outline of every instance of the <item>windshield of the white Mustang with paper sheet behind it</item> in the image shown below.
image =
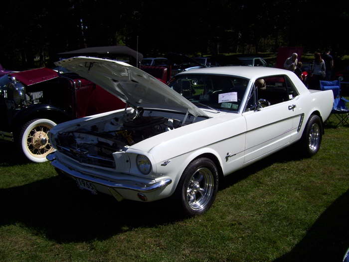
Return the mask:
[[238,111],[248,82],[238,77],[188,74],[175,77],[169,86],[199,107]]

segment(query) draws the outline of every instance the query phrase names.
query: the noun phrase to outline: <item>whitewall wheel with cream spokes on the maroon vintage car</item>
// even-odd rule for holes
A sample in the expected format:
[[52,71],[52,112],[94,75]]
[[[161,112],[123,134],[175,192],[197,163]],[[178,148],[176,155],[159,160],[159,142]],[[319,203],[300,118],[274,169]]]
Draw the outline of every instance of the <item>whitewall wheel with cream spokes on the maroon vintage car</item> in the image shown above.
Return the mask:
[[49,119],[39,118],[26,122],[17,137],[17,146],[24,157],[34,163],[47,161],[46,156],[54,151],[48,140],[48,132],[56,125]]

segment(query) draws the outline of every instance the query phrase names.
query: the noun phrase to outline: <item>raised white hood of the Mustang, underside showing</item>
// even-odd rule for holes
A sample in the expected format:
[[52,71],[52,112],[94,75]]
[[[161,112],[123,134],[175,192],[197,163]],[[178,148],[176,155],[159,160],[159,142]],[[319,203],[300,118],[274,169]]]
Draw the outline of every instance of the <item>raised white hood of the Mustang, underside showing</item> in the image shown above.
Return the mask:
[[73,57],[55,63],[103,87],[132,107],[206,114],[185,97],[146,72],[129,64],[94,57]]

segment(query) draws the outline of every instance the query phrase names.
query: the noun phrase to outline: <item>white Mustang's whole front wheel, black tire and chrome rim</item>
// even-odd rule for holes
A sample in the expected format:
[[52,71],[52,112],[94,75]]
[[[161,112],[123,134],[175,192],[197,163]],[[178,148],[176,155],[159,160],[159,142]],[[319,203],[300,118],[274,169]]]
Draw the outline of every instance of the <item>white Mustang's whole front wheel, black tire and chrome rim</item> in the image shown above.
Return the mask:
[[212,205],[218,190],[218,172],[208,158],[195,159],[185,168],[175,196],[188,216],[200,215]]

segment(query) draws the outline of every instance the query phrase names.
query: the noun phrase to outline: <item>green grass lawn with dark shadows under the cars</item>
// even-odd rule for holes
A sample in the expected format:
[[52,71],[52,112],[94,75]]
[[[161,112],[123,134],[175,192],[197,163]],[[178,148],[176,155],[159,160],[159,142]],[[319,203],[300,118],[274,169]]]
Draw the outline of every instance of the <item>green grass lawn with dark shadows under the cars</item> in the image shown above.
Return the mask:
[[48,163],[18,165],[13,145],[1,143],[0,261],[341,261],[348,138],[349,126],[327,125],[313,158],[285,149],[235,172],[212,208],[189,219],[166,200],[91,195]]

